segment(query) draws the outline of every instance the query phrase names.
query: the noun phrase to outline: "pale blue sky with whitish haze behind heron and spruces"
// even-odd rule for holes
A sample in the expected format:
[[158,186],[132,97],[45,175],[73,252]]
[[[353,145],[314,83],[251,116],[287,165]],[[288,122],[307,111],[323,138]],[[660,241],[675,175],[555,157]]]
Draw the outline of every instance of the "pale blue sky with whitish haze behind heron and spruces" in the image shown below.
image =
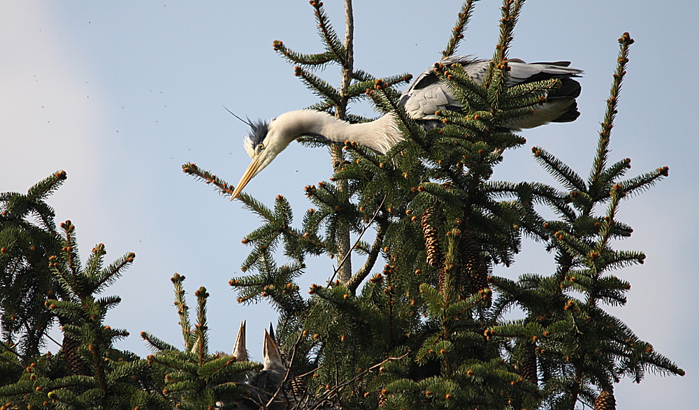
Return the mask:
[[[340,36],[343,2],[324,1]],[[628,304],[610,309],[687,374],[648,374],[617,385],[618,409],[691,409],[699,400],[699,173],[696,111],[699,75],[693,1],[530,0],[510,57],[572,61],[585,71],[582,115],[523,133],[526,147],[505,153],[495,177],[555,184],[531,158],[540,145],[588,175],[609,95],[617,38],[629,31],[628,75],[612,133],[612,161],[632,159],[630,176],[661,166],[670,177],[623,203],[619,219],[635,230],[619,247],[645,251],[644,265],[617,272],[631,282]],[[428,6],[438,5],[438,6]],[[418,75],[440,59],[460,1],[354,1],[355,67],[376,76]],[[491,57],[500,2],[483,0],[459,48]],[[210,293],[210,346],[231,351],[241,320],[248,349],[261,358],[262,329],[275,321],[266,305],[243,306],[227,285],[240,275],[259,226],[239,202],[182,173],[188,161],[236,183],[250,162],[241,117],[268,119],[316,98],[272,49],[281,40],[321,52],[308,1],[0,0],[0,191],[26,192],[56,170],[68,180],[48,203],[71,219],[83,256],[106,244],[108,260],[133,251],[134,265],[106,294],[122,297],[107,317],[131,336],[117,347],[147,354],[148,330],[181,345],[169,278],[187,277]],[[339,85],[338,72],[322,76]],[[373,115],[368,105],[353,112]],[[245,190],[271,205],[289,198],[310,207],[303,186],[328,180],[327,150],[296,143]],[[332,261],[309,263],[302,286],[325,281]],[[497,274],[550,274],[552,256],[527,242],[517,262]],[[57,351],[55,344],[48,349]]]

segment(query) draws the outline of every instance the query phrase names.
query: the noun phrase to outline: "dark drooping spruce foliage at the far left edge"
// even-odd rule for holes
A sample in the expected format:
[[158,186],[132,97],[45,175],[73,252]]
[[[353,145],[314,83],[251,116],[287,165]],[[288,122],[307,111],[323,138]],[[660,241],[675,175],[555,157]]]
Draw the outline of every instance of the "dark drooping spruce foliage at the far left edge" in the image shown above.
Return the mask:
[[55,213],[45,199],[65,179],[65,171],[58,171],[26,194],[0,194],[0,354],[16,353],[24,365],[38,355],[55,319],[44,302],[60,291],[48,265],[60,245]]

